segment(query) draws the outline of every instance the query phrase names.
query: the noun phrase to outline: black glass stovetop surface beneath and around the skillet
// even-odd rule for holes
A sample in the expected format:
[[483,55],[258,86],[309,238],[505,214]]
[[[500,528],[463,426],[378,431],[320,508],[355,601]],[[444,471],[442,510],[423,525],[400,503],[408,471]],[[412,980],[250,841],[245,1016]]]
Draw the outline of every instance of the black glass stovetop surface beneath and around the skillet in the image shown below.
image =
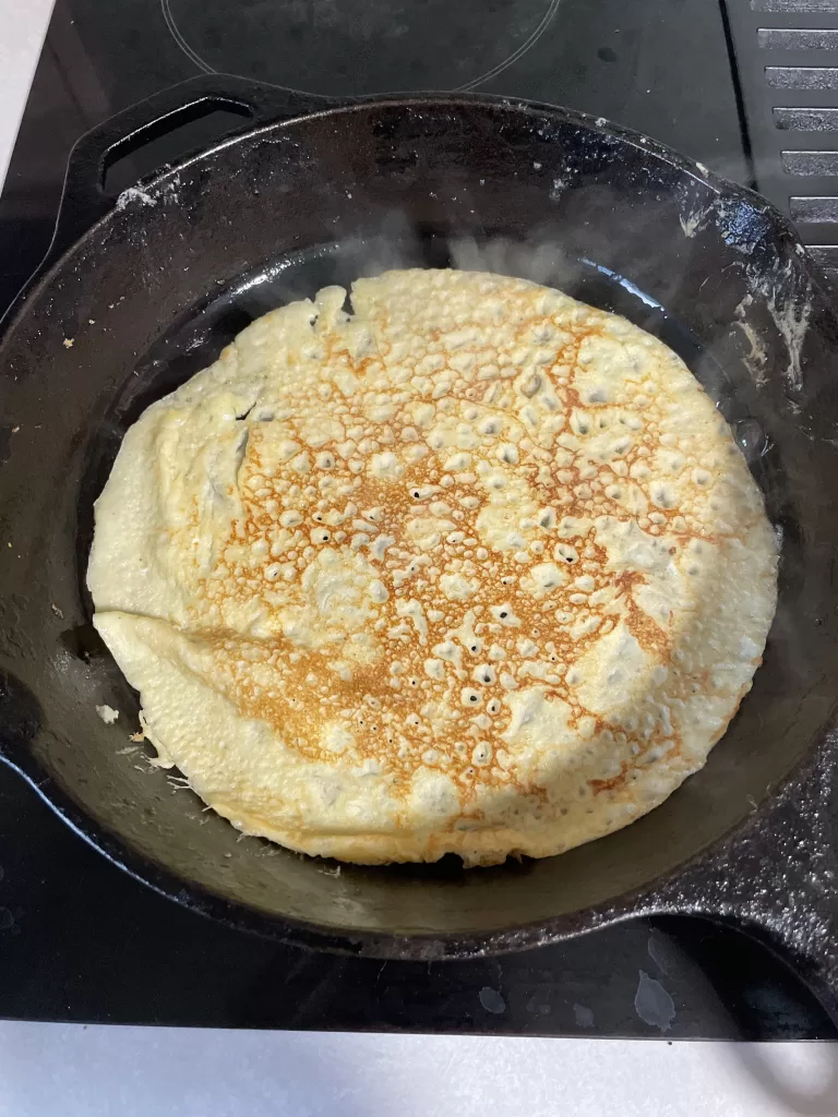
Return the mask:
[[[830,4],[838,15],[838,0],[57,0],[0,197],[0,313],[49,244],[76,140],[202,71],[297,90],[313,106],[318,97],[456,89],[583,109],[761,187],[798,220],[813,214],[810,242],[838,262],[828,219],[832,203],[838,218],[838,198],[828,197],[838,154],[826,151],[826,125],[809,144],[818,159],[802,150],[800,131],[800,112],[813,112],[800,89],[816,90],[826,120],[830,86],[792,73],[807,68],[800,51],[815,51],[818,64],[838,47],[838,30],[835,40],[825,30]],[[796,8],[804,12],[798,30],[815,38],[766,37],[763,25],[788,30]],[[763,59],[788,50],[773,67],[785,76],[766,84]],[[765,89],[791,92],[766,99]],[[775,127],[777,114],[792,109]],[[230,123],[194,123],[178,140],[182,153]],[[134,162],[121,173],[130,182],[150,170]],[[697,919],[638,919],[517,955],[432,965],[312,955],[234,932],[109,865],[2,765],[0,1015],[667,1039],[835,1034],[766,951]]]

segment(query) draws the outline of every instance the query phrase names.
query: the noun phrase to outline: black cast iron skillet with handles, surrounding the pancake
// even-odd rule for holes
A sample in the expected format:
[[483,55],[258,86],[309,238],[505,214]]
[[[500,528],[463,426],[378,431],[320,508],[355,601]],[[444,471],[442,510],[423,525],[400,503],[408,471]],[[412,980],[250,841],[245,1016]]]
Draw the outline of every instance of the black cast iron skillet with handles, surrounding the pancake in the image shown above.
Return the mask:
[[[105,195],[126,137],[219,103],[259,126]],[[694,913],[762,938],[838,1014],[838,322],[793,231],[698,164],[560,108],[437,97],[276,118],[287,111],[284,94],[201,78],[74,152],[56,242],[0,342],[3,758],[128,872],[239,927],[440,958]],[[92,504],[126,427],[251,317],[388,264],[450,260],[561,285],[685,356],[782,536],[780,608],[706,767],[627,830],[496,869],[339,869],[240,839],[132,745],[136,696],[89,627]]]

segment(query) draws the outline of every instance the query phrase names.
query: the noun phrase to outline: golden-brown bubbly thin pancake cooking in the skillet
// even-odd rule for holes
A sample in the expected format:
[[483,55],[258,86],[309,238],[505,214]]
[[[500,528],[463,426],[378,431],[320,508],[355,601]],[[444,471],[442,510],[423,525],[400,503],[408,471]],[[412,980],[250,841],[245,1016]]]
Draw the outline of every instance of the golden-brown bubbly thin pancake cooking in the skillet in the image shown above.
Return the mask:
[[523,280],[392,271],[254,322],[128,431],[95,623],[146,733],[249,833],[543,857],[701,767],[775,546],[692,373]]

